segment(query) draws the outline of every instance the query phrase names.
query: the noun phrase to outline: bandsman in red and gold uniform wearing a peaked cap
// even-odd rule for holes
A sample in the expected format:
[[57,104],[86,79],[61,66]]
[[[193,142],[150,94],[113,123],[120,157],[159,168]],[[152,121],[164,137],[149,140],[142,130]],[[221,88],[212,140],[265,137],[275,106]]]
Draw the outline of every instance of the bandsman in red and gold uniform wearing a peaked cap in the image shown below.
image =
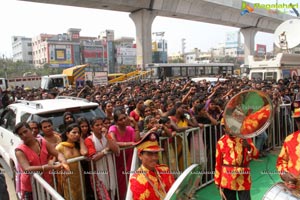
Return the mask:
[[134,200],[163,200],[174,183],[174,177],[166,165],[159,165],[158,145],[155,133],[146,134],[137,143],[140,168],[130,177],[130,190]]

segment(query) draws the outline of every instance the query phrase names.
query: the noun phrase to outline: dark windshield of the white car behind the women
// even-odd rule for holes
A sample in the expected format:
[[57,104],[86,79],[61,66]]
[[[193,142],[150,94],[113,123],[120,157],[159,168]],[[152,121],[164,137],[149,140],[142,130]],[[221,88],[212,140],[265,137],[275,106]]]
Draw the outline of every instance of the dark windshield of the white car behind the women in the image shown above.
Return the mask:
[[75,119],[79,117],[85,117],[90,121],[94,117],[103,117],[103,118],[105,117],[105,113],[102,110],[100,110],[98,107],[89,107],[89,108],[79,108],[79,109],[65,110],[59,112],[36,114],[33,115],[32,120],[40,122],[43,119],[51,119],[54,130],[59,132],[59,126],[63,124],[63,114],[66,111],[71,111]]

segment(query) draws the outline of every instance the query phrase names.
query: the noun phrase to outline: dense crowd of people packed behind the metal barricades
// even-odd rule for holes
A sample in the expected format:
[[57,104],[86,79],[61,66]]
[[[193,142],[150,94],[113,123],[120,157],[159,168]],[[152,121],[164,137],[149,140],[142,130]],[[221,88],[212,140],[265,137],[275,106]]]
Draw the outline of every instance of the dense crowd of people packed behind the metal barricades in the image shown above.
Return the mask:
[[[177,149],[177,158],[172,152],[169,163],[170,169],[184,170],[183,166],[183,146],[180,142],[181,137],[177,137],[176,133],[183,132],[193,127],[203,128],[204,124],[217,125],[221,119],[226,103],[237,93],[243,90],[261,90],[265,92],[273,102],[274,109],[280,104],[288,104],[300,100],[298,88],[300,81],[291,81],[288,79],[276,81],[261,81],[228,78],[227,81],[217,82],[193,82],[190,79],[174,79],[163,81],[138,81],[129,83],[117,83],[107,86],[91,86],[85,85],[78,89],[65,88],[63,90],[53,89],[45,91],[41,89],[24,90],[24,87],[16,87],[13,90],[0,91],[1,106],[5,108],[10,103],[17,100],[39,100],[55,98],[57,95],[62,96],[77,96],[85,98],[89,101],[96,102],[99,107],[105,112],[106,118],[94,118],[88,121],[85,118],[75,119],[72,113],[65,113],[64,121],[59,127],[59,132],[54,131],[50,119],[44,119],[41,122],[20,123],[16,126],[15,133],[23,140],[23,144],[16,149],[16,157],[20,164],[22,172],[39,171],[46,179],[50,170],[62,170],[60,174],[71,180],[71,191],[66,187],[66,180],[63,176],[57,176],[58,191],[66,198],[82,199],[82,191],[78,187],[78,180],[85,179],[86,185],[96,185],[97,199],[114,199],[116,197],[116,185],[118,185],[120,199],[125,199],[127,185],[126,174],[130,171],[133,151],[131,148],[126,149],[125,154],[120,154],[120,148],[137,146],[139,149],[139,158],[142,161],[142,170],[169,170],[161,166],[147,166],[147,161],[152,158],[157,162],[157,152],[161,149],[147,150],[146,147],[139,147],[142,142],[149,140],[149,133],[155,133],[157,137],[170,137],[167,141],[172,144],[173,138],[176,137],[177,146],[168,148],[168,151]],[[298,91],[297,91],[298,90]],[[287,113],[291,115],[290,113]],[[30,133],[34,133],[34,135]],[[156,137],[155,136],[155,137]],[[145,139],[148,138],[148,139]],[[152,137],[153,139],[153,137]],[[156,138],[157,139],[157,138]],[[156,140],[155,138],[153,140]],[[251,151],[253,158],[265,156],[263,144],[266,141],[264,138],[255,145],[249,141],[243,144],[243,140],[231,137],[222,138],[223,143],[237,143],[244,148],[247,146],[248,151]],[[142,142],[141,142],[142,141]],[[191,143],[192,141],[190,141]],[[220,152],[224,147],[219,145],[218,141],[214,141],[217,153],[215,161],[221,159]],[[249,150],[249,145],[251,150]],[[154,144],[154,147],[157,145]],[[146,149],[146,150],[143,150]],[[223,148],[223,149],[222,149]],[[246,147],[245,147],[246,148]],[[113,169],[112,153],[120,156],[116,160],[116,173]],[[189,152],[187,150],[187,152]],[[66,159],[78,156],[86,156],[93,163],[93,169],[99,171],[107,171],[106,174],[87,175],[82,173],[71,173],[68,171],[78,171],[78,163],[66,164]],[[124,157],[125,155],[125,157]],[[247,153],[245,154],[248,155]],[[208,155],[214,156],[214,155]],[[189,159],[190,156],[187,157]],[[148,159],[148,160],[147,160]],[[124,160],[126,161],[124,163]],[[164,158],[162,159],[164,160]],[[173,160],[173,162],[172,162]],[[174,160],[178,160],[178,166]],[[250,158],[245,158],[245,165],[248,165]],[[54,162],[60,161],[61,164],[55,165]],[[191,161],[187,161],[191,164]],[[231,163],[227,163],[231,165]],[[82,161],[83,170],[91,170],[91,166]],[[145,169],[146,167],[147,169]],[[217,167],[217,166],[216,166]],[[162,199],[170,185],[174,182],[173,177],[158,177],[155,174],[150,174],[156,178],[155,187],[162,184],[164,179],[168,179],[163,188],[154,190],[154,194],[147,196],[145,199]],[[113,177],[118,177],[114,179]],[[138,175],[134,176],[138,179]],[[149,178],[145,178],[149,182]],[[224,178],[224,177],[223,177]],[[226,178],[226,177],[225,177]],[[245,177],[244,177],[245,178]],[[131,184],[136,183],[132,179]],[[249,180],[249,177],[246,177]],[[245,179],[245,180],[246,180]],[[223,183],[222,177],[216,179],[216,184],[220,188],[227,188],[227,184]],[[246,180],[246,181],[247,181]],[[30,199],[31,187],[28,184],[28,174],[21,173],[21,191],[24,199]],[[117,183],[116,183],[117,182]],[[51,183],[51,180],[49,180]],[[149,187],[153,187],[153,185]],[[85,190],[87,199],[93,199],[94,191],[90,188],[82,188]],[[136,190],[138,187],[132,188],[134,199],[141,199]],[[144,188],[145,189],[145,188]],[[143,190],[144,190],[143,189]],[[236,188],[227,188],[236,190]],[[243,190],[250,190],[250,183],[243,187]],[[163,194],[163,195],[162,195]],[[232,195],[230,191],[225,191],[225,195]],[[244,195],[244,194],[243,194]],[[247,198],[249,193],[246,194]],[[150,198],[151,197],[151,198]],[[247,199],[246,198],[246,199]],[[231,199],[231,198],[227,198]],[[243,198],[240,198],[243,199]]]

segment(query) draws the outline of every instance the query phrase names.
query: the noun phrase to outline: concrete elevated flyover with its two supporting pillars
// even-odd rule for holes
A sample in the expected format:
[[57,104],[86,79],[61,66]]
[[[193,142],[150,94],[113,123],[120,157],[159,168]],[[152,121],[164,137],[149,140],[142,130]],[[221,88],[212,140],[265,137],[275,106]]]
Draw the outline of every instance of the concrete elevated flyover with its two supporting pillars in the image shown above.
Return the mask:
[[[241,15],[241,0],[23,0],[56,5],[122,11],[130,13],[136,26],[137,63],[152,63],[151,25],[156,16],[241,28],[245,38],[245,57],[254,51],[257,31],[273,33],[283,21],[294,18],[255,8]],[[261,1],[258,1],[262,3]],[[253,6],[253,4],[249,3]],[[199,32],[205,30],[199,30]]]

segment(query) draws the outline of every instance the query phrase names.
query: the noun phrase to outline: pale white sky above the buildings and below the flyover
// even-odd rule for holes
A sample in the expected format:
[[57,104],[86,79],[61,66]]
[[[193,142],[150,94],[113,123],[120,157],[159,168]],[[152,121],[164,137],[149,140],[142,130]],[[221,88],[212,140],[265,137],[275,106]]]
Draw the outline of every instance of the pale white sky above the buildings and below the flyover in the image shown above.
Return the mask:
[[[266,3],[276,0],[248,1]],[[290,1],[296,2],[296,0]],[[135,38],[134,23],[129,13],[125,12],[1,0],[0,19],[1,57],[12,56],[12,36],[34,37],[40,33],[61,34],[66,33],[69,28],[80,28],[81,36],[97,37],[101,31],[110,29],[115,31],[115,38],[124,36]],[[165,32],[164,38],[168,42],[169,54],[181,52],[182,38],[186,39],[185,51],[194,48],[208,51],[212,47],[217,47],[219,43],[224,43],[226,33],[238,30],[238,28],[228,26],[166,17],[156,17],[152,24],[152,32]],[[267,51],[271,51],[273,37],[273,34],[259,32],[255,43],[266,44]]]

